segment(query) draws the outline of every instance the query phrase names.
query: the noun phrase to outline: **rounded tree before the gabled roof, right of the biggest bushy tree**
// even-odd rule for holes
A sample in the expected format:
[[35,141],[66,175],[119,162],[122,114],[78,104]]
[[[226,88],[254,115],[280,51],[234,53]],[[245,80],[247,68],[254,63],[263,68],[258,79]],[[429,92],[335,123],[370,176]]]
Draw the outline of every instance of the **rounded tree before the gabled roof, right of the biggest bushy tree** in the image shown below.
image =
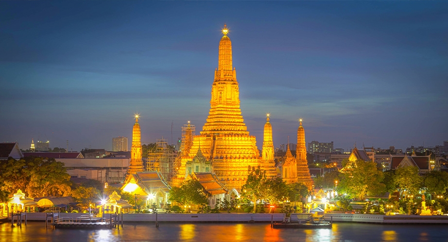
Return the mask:
[[415,166],[400,166],[395,171],[395,181],[400,192],[400,198],[417,194],[422,185],[422,178]]

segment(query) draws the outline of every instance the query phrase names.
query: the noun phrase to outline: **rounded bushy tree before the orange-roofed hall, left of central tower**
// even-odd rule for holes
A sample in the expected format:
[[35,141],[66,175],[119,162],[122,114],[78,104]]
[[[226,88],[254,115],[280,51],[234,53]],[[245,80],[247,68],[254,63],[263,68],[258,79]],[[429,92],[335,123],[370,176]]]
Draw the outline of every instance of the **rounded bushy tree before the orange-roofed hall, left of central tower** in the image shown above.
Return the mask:
[[207,204],[207,194],[204,187],[196,180],[184,181],[180,187],[172,187],[170,201],[176,201],[184,206]]

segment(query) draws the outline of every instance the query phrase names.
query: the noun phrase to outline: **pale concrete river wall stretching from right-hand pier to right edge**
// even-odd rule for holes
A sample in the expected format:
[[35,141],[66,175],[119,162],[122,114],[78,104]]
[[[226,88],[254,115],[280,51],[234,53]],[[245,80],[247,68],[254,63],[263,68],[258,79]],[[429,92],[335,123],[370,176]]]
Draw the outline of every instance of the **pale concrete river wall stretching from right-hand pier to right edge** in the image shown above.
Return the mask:
[[448,224],[448,216],[326,213],[325,220],[370,224]]

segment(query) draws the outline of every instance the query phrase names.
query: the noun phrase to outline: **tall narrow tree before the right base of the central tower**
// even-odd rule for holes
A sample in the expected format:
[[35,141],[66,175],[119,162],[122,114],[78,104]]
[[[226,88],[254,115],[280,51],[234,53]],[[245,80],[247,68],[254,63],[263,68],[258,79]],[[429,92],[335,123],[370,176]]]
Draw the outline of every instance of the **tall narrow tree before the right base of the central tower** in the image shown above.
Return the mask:
[[249,167],[246,184],[241,187],[241,197],[254,203],[254,213],[257,212],[257,201],[263,198],[265,183],[266,172],[261,171],[259,166],[257,169]]

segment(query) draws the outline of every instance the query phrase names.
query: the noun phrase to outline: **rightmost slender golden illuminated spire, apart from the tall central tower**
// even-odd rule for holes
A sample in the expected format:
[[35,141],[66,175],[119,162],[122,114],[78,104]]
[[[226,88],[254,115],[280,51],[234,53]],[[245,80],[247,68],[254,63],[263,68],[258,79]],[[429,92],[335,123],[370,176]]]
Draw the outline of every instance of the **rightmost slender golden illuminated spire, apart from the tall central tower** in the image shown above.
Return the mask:
[[305,129],[302,126],[300,119],[300,126],[297,129],[297,149],[295,152],[295,161],[297,165],[297,182],[305,184],[311,190],[314,184],[311,179],[310,169],[307,161],[307,146],[305,145]]

